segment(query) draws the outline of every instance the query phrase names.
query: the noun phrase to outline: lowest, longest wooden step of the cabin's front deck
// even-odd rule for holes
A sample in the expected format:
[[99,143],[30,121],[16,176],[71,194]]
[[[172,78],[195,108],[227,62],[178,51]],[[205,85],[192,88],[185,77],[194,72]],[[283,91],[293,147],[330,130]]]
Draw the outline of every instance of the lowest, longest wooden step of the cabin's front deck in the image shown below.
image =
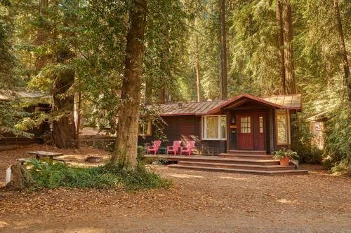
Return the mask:
[[225,169],[218,167],[192,167],[192,166],[184,166],[178,164],[171,164],[168,167],[174,168],[185,168],[185,169],[197,169],[197,170],[211,170],[211,171],[233,171],[238,173],[249,173],[249,174],[265,174],[265,175],[273,175],[273,174],[307,174],[307,170],[282,170],[282,171],[260,171],[260,170],[248,170],[248,169]]

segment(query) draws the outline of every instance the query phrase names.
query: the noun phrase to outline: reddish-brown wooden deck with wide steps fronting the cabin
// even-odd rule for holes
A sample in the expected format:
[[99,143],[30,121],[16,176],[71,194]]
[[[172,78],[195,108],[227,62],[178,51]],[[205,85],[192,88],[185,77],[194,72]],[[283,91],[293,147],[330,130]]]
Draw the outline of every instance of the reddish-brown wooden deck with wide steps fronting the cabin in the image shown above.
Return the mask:
[[194,169],[201,171],[222,171],[244,174],[277,175],[277,174],[307,174],[306,170],[298,170],[292,164],[281,166],[279,160],[259,159],[250,157],[218,157],[205,155],[145,155],[159,160],[168,160],[176,164],[168,165],[179,169]]

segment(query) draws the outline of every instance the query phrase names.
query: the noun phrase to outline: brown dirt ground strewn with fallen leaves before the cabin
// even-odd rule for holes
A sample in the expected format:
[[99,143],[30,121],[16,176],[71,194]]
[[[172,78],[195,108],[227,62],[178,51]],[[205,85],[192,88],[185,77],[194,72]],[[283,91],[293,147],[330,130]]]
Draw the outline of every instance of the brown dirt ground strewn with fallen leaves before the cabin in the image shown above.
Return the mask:
[[[0,152],[1,182],[15,158],[39,148]],[[108,156],[88,147],[48,149],[75,160]],[[152,165],[173,180],[173,188],[0,189],[0,232],[351,232],[351,178],[303,168],[310,174],[255,176]]]

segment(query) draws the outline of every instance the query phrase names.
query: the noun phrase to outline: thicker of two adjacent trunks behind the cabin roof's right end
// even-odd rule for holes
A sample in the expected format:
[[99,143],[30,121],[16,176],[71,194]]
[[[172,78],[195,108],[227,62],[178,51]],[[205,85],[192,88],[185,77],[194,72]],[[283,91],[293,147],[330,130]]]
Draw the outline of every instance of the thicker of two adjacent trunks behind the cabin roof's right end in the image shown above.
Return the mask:
[[296,82],[293,68],[293,25],[289,0],[282,3],[283,40],[284,40],[284,70],[286,94],[296,94]]

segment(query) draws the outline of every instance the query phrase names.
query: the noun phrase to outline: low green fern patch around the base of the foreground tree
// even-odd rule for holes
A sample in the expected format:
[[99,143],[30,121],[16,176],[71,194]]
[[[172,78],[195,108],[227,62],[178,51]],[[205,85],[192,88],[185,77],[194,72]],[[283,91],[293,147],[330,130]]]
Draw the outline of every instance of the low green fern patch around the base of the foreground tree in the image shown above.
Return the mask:
[[29,169],[36,188],[124,188],[141,190],[150,188],[168,188],[171,181],[161,178],[142,165],[135,169],[107,164],[103,167],[68,167],[67,164],[52,161],[41,162],[32,159]]

